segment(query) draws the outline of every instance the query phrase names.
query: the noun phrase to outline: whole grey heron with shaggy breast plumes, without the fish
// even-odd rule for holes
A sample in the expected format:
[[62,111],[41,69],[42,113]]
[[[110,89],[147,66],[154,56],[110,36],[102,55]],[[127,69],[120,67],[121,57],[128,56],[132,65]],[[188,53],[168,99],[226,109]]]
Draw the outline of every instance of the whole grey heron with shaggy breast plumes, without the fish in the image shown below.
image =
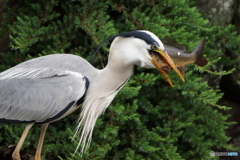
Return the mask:
[[34,124],[41,124],[35,160],[41,159],[49,123],[58,121],[81,107],[75,136],[77,148],[89,146],[97,118],[132,75],[134,66],[157,68],[161,57],[184,81],[164,45],[153,33],[131,31],[114,37],[108,63],[94,68],[85,59],[71,54],[53,54],[31,59],[0,73],[0,124],[27,123],[12,154],[20,160],[20,149]]

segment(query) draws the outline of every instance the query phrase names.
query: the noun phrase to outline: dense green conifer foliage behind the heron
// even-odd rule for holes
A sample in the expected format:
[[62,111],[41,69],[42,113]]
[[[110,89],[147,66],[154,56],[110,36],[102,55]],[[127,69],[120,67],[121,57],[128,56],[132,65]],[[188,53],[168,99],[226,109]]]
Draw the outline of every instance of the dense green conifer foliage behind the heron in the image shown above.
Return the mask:
[[[11,4],[11,0],[8,1]],[[60,1],[27,0],[18,8],[8,27],[11,50],[1,53],[6,69],[30,58],[53,53],[72,53],[90,59],[96,46],[109,36],[124,31],[145,29],[160,38],[169,36],[190,51],[207,38],[205,53],[209,65],[191,65],[180,82],[170,72],[170,87],[157,71],[136,68],[135,74],[97,121],[93,140],[84,155],[74,154],[72,140],[78,113],[50,125],[43,147],[43,159],[216,159],[209,153],[229,148],[225,130],[228,110],[218,104],[222,93],[211,89],[200,72],[229,74],[217,66],[236,65],[223,53],[239,51],[240,36],[234,26],[220,27],[204,19],[190,0],[168,1]],[[2,30],[0,30],[2,31]],[[1,33],[2,35],[3,33]],[[100,68],[107,61],[103,47],[92,63]],[[219,59],[219,57],[222,57]],[[219,73],[220,72],[220,73]],[[0,143],[16,144],[23,126],[0,126]],[[34,154],[39,129],[31,130],[22,153]],[[35,147],[34,147],[35,146]]]

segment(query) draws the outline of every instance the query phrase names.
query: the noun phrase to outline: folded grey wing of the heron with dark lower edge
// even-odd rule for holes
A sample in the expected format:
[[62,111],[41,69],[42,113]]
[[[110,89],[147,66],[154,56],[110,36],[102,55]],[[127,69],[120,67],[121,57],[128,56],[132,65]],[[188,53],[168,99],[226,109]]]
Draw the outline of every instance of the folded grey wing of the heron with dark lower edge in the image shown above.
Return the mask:
[[25,77],[16,73],[0,77],[0,123],[58,119],[83,99],[89,83],[80,73],[58,69],[29,69]]

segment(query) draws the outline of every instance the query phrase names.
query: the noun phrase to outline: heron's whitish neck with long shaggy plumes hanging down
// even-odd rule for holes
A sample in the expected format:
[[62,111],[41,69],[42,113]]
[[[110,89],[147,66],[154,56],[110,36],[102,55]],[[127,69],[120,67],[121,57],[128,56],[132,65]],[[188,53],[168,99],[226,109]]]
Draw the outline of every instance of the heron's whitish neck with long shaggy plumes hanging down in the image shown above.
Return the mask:
[[78,147],[80,144],[83,145],[82,152],[91,142],[97,118],[106,110],[118,91],[129,80],[132,71],[133,65],[126,66],[120,61],[109,59],[107,66],[99,70],[98,75],[90,82],[75,130],[75,135],[81,132]]

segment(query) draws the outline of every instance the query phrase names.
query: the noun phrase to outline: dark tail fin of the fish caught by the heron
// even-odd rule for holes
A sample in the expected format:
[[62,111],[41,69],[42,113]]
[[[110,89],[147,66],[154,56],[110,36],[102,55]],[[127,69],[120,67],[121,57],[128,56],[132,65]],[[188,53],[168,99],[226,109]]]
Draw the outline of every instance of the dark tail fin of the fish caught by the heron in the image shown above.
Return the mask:
[[198,66],[205,66],[208,61],[206,58],[203,57],[203,50],[204,50],[205,39],[202,39],[201,42],[197,45],[197,47],[192,52],[196,55],[195,64]]

